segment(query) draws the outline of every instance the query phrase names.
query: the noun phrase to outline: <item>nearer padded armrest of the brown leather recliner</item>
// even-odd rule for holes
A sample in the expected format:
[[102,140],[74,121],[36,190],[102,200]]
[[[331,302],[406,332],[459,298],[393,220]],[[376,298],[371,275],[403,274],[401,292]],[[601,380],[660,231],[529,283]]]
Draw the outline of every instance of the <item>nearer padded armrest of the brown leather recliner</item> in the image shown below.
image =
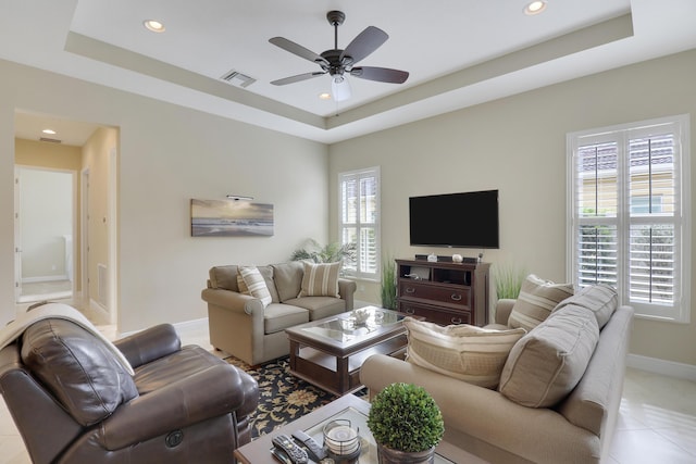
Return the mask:
[[117,450],[192,424],[233,413],[245,401],[236,367],[219,364],[122,404],[100,426],[99,439]]

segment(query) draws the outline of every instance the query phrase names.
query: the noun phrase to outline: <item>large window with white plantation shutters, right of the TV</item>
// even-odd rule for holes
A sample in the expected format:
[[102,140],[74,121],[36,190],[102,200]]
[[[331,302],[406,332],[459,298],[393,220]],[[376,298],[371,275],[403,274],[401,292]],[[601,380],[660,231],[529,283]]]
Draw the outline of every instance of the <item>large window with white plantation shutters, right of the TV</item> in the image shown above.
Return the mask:
[[568,135],[569,274],[647,317],[688,322],[688,116]]

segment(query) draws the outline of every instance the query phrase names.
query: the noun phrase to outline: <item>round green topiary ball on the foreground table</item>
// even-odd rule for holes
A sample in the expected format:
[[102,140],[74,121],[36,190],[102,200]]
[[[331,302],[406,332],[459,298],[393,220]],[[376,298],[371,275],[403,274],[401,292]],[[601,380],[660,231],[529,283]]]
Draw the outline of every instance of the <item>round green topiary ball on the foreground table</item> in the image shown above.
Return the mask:
[[418,453],[437,446],[445,432],[443,414],[423,387],[391,384],[372,400],[368,427],[375,441]]

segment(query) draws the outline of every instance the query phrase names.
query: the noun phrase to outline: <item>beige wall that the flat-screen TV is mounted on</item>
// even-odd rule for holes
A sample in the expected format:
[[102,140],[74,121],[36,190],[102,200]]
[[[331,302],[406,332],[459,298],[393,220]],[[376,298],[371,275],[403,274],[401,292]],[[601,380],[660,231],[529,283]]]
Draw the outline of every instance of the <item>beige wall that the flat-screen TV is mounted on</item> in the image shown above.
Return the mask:
[[[500,249],[485,251],[484,260],[564,280],[566,135],[692,113],[694,155],[695,75],[696,51],[689,51],[333,145],[331,235],[337,237],[337,173],[380,165],[385,252],[403,258],[433,251],[475,255],[480,250],[410,247],[408,198],[499,189]],[[695,170],[692,163],[693,181]],[[691,205],[694,217],[693,201]],[[694,252],[692,243],[692,262]],[[357,298],[378,301],[375,287],[360,283],[364,290]],[[631,352],[696,365],[695,302],[696,294],[691,324],[636,319]]]

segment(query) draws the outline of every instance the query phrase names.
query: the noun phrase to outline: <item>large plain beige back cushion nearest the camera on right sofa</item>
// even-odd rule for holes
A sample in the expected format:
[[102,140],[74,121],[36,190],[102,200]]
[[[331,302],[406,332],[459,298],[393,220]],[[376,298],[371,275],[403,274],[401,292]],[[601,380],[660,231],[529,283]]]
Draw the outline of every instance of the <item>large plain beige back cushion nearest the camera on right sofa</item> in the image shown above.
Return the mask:
[[598,340],[594,313],[566,306],[512,347],[498,390],[524,406],[552,406],[575,388]]

